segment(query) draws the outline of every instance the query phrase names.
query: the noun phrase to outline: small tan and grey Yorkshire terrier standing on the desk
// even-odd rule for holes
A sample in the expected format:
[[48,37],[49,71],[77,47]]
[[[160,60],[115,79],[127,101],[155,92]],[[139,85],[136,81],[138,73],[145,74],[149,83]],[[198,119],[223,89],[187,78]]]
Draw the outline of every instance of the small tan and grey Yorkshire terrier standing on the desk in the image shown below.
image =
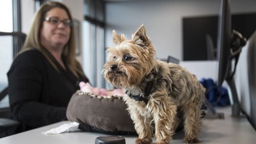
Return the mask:
[[156,143],[169,143],[181,121],[183,141],[200,142],[205,88],[196,76],[178,64],[156,60],[143,25],[128,40],[113,30],[113,42],[102,71],[108,82],[126,93],[123,100],[139,135],[136,143],[152,143],[154,133]]

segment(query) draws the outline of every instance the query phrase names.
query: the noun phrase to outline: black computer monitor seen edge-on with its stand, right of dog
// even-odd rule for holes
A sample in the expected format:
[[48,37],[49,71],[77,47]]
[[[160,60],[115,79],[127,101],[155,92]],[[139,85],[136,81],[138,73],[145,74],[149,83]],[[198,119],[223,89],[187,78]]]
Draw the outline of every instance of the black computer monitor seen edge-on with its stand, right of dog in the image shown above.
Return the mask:
[[[218,86],[222,86],[224,80],[226,80],[231,91],[230,98],[232,105],[232,116],[240,116],[241,108],[238,100],[236,85],[234,84],[233,80],[233,74],[236,70],[236,64],[238,62],[242,46],[244,46],[246,43],[246,39],[239,32],[231,30],[231,12],[229,0],[222,0],[221,2],[217,40],[219,61]],[[235,60],[235,63],[232,66],[231,61],[233,59]]]

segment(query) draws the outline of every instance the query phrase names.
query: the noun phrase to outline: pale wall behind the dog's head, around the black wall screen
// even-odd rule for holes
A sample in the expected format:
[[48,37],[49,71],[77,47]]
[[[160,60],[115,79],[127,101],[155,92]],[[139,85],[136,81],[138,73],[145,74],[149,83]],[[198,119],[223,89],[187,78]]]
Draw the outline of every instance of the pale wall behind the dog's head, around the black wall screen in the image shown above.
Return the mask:
[[[256,12],[256,1],[231,0],[232,13]],[[217,15],[220,0],[147,0],[106,3],[106,45],[113,45],[112,30],[127,38],[143,23],[157,50],[157,57],[182,56],[182,17]],[[201,26],[200,26],[201,27]]]

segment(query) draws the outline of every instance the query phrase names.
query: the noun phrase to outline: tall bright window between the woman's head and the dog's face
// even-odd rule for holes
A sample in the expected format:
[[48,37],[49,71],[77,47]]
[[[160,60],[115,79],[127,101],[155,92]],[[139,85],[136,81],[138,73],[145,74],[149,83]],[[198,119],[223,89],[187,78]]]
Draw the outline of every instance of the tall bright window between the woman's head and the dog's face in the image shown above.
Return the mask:
[[105,62],[104,46],[104,2],[86,0],[83,21],[83,68],[90,83],[105,87],[101,74]]

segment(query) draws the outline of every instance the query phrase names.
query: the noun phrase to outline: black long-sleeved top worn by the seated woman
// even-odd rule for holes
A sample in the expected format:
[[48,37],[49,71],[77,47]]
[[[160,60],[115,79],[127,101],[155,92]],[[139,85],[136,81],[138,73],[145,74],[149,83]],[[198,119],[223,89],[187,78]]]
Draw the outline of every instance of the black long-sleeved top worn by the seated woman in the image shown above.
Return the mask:
[[88,82],[51,59],[59,72],[41,52],[29,50],[16,57],[7,73],[12,117],[22,124],[22,131],[67,119],[71,96],[79,89],[80,81]]

